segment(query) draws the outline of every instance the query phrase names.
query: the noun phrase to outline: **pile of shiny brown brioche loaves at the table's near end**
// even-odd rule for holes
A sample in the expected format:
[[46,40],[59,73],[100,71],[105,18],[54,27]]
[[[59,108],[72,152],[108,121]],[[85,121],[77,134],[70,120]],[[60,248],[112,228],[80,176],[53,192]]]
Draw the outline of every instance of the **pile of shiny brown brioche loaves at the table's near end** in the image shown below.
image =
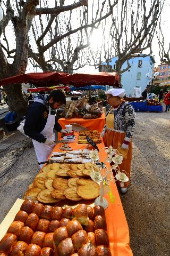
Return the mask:
[[1,256],[111,256],[105,211],[26,199],[0,242]]

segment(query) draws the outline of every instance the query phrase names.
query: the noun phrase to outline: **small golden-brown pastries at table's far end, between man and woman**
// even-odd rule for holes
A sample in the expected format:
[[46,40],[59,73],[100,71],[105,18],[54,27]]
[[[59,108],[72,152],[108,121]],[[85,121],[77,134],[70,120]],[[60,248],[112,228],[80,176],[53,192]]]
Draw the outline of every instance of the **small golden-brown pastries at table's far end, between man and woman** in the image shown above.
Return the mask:
[[[79,136],[78,136],[79,144],[88,143],[86,139],[86,135],[88,135],[90,139],[92,139],[95,143],[101,143],[100,133],[97,130],[92,130],[92,131],[88,130],[88,131],[79,132]],[[87,155],[86,153],[88,152],[87,149],[84,152],[85,152],[85,155]]]

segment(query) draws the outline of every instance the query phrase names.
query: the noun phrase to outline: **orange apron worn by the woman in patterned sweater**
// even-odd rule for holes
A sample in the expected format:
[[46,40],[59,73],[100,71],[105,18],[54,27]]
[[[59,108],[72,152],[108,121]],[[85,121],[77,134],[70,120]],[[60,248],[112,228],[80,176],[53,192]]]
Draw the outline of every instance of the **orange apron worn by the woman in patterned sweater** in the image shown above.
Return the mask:
[[[105,147],[112,146],[113,148],[120,151],[120,145],[123,144],[125,132],[117,131],[114,129],[114,113],[111,114],[109,111],[108,115],[106,116],[106,132],[104,134],[103,140],[105,143]],[[120,153],[122,153],[120,151]],[[132,161],[132,141],[129,143],[129,149],[128,154],[125,157],[123,157],[122,164],[118,165],[120,167],[120,171],[126,171],[126,175],[128,176],[130,180],[130,173],[131,173],[131,161]],[[112,164],[111,164],[112,165]],[[115,173],[114,173],[115,174]],[[116,182],[120,186],[120,181]],[[124,187],[129,186],[129,181],[124,182]]]

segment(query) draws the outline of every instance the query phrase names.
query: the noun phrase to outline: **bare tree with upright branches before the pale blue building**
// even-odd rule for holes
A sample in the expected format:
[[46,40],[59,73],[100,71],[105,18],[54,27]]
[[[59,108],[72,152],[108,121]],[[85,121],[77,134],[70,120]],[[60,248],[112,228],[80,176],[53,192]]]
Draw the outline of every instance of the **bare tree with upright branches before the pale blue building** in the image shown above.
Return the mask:
[[[115,70],[120,80],[122,73],[131,68],[128,61],[130,58],[135,54],[142,53],[140,57],[152,54],[152,39],[161,11],[159,0],[122,0],[117,5],[116,15],[111,15],[111,28],[109,32],[105,31],[111,39],[108,39],[108,44],[103,45],[102,54],[108,65],[113,56],[117,57]],[[126,61],[128,65],[122,70]],[[100,60],[97,65],[99,64]]]

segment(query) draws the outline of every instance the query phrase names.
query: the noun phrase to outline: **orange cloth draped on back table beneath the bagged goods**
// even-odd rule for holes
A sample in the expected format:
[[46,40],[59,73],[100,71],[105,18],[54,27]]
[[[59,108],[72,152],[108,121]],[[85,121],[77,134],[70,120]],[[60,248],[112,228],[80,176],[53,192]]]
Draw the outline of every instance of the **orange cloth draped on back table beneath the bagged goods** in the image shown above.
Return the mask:
[[58,122],[62,126],[62,129],[65,129],[66,124],[77,123],[77,124],[80,124],[84,127],[87,127],[89,130],[98,130],[99,132],[102,132],[103,127],[105,125],[105,113],[103,113],[102,116],[97,118],[97,119],[83,119],[83,118],[65,119],[65,118],[60,118],[58,120]]

